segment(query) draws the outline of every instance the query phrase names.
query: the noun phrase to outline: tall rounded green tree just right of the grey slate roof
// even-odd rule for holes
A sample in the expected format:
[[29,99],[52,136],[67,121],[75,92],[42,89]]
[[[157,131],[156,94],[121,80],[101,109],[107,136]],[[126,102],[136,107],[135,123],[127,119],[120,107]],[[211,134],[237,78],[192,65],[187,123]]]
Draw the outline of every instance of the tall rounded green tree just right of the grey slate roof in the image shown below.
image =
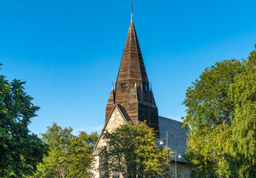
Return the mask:
[[198,169],[193,177],[228,177],[224,145],[234,122],[234,99],[228,97],[234,77],[244,73],[243,62],[236,59],[217,62],[193,82],[183,105],[188,107],[184,126],[188,126],[186,159]]

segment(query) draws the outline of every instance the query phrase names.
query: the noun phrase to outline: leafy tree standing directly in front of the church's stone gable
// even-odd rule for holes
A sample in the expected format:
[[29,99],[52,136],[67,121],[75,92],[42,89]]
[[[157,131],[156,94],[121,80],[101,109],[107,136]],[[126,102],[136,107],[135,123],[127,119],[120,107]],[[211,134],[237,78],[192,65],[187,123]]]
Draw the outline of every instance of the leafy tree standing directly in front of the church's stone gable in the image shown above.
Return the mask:
[[166,168],[166,151],[157,148],[156,133],[144,122],[128,122],[111,133],[106,131],[103,139],[106,148],[100,158],[102,177],[156,177]]

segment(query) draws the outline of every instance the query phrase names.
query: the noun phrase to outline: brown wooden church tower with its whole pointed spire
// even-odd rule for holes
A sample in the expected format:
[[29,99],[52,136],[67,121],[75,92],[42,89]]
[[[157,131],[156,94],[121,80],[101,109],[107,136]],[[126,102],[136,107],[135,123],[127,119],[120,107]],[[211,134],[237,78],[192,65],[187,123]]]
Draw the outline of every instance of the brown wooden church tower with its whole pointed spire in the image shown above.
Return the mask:
[[118,78],[115,82],[115,90],[112,88],[109,102],[106,105],[105,124],[115,104],[124,108],[133,124],[146,120],[150,128],[159,132],[158,108],[147,79],[141,48],[132,19],[129,24]]

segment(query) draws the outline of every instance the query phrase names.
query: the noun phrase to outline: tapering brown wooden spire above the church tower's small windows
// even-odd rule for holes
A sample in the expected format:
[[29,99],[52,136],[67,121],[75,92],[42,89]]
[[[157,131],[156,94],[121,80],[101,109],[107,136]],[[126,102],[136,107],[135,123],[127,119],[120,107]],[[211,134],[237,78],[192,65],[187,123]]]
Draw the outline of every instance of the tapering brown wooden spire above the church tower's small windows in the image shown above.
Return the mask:
[[138,44],[138,37],[132,20],[129,24],[127,42],[124,47],[117,82],[124,80],[148,82],[141,48]]

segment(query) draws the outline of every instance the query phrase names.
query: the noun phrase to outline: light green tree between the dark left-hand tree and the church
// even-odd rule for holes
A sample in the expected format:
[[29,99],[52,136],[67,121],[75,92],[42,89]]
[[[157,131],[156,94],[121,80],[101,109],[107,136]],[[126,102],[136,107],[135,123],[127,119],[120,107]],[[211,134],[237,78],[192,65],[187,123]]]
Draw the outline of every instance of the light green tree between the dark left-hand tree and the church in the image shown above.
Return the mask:
[[91,177],[92,149],[97,141],[97,133],[88,135],[80,132],[71,134],[72,128],[61,128],[54,123],[42,133],[43,141],[49,145],[48,156],[38,165],[35,177]]

